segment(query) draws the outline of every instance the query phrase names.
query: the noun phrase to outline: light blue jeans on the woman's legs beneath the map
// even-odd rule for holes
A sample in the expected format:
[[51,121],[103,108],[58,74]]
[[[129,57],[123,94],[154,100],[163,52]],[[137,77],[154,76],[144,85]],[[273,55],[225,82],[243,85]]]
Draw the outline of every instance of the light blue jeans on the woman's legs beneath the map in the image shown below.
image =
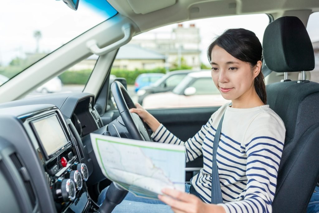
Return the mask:
[[[189,193],[190,185],[185,184],[185,192]],[[98,198],[98,205],[102,205],[105,200],[105,194],[108,187],[102,190]],[[159,200],[146,199],[136,197],[132,193],[127,193],[124,200],[115,207],[112,212],[132,212],[132,213],[146,213],[146,212],[173,212],[171,207]]]

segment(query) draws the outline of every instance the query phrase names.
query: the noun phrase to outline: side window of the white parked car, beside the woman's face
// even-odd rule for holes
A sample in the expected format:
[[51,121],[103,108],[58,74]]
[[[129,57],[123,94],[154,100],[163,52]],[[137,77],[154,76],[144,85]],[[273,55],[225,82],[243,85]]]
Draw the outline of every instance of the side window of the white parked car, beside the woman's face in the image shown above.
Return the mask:
[[220,94],[211,78],[197,78],[190,86],[196,89],[195,95]]

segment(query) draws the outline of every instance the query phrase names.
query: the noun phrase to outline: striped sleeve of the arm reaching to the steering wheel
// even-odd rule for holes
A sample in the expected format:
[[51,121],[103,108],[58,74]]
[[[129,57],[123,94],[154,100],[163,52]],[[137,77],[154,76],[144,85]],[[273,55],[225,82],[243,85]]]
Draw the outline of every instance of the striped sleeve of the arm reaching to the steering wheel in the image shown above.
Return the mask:
[[207,131],[209,130],[209,128],[211,128],[212,119],[213,115],[211,116],[209,121],[202,126],[201,130],[199,130],[194,137],[189,138],[186,142],[183,142],[173,133],[168,131],[163,124],[159,125],[159,127],[151,135],[151,137],[156,142],[184,145],[186,148],[186,162],[193,161],[202,154],[203,140]]

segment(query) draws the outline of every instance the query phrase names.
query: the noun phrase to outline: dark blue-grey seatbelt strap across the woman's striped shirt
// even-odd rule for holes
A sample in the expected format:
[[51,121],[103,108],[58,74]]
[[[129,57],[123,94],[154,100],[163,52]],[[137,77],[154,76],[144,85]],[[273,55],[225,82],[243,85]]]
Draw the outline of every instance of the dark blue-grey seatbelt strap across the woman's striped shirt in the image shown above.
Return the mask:
[[224,114],[221,117],[220,122],[218,124],[215,137],[214,137],[214,144],[213,144],[213,160],[212,160],[213,164],[212,164],[212,172],[211,172],[211,203],[213,204],[223,203],[223,197],[221,195],[218,167],[217,167],[217,161],[216,161],[217,148],[218,148],[221,125],[223,123],[223,119],[224,119]]

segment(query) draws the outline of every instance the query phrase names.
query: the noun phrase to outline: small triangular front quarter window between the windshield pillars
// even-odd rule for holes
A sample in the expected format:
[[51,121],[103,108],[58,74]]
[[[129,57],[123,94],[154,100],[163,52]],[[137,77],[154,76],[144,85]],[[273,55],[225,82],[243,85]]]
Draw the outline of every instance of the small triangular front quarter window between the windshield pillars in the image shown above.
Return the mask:
[[50,79],[27,94],[25,98],[52,93],[82,92],[85,84],[89,80],[97,59],[97,55],[92,55],[87,59],[78,62],[66,69],[59,76]]

